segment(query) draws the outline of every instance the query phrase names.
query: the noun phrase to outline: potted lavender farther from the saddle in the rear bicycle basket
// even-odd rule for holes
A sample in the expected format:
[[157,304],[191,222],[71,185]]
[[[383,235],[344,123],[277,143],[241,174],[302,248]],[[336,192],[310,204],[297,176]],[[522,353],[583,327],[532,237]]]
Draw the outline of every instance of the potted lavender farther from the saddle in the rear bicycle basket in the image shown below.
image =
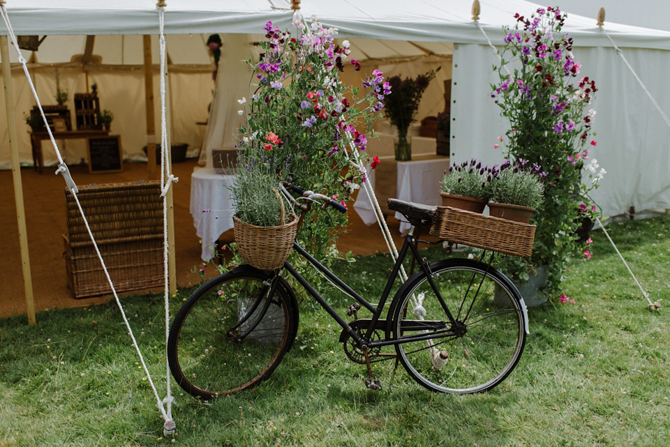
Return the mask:
[[530,216],[542,204],[546,174],[538,165],[527,160],[512,164],[505,160],[500,170],[493,169],[489,214],[497,218],[530,222]]

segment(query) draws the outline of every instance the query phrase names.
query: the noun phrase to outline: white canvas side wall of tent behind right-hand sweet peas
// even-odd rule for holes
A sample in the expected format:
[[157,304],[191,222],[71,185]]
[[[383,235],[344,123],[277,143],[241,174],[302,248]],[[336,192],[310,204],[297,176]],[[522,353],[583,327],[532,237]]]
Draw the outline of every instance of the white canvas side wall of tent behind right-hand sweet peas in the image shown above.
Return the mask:
[[[492,39],[493,40],[493,39]],[[670,53],[625,49],[627,59],[660,104],[670,104],[664,73]],[[670,208],[670,129],[644,95],[632,73],[610,48],[574,48],[584,63],[582,75],[595,79],[600,91],[592,107],[597,112],[590,155],[607,171],[600,188],[592,192],[604,215]],[[502,160],[494,149],[498,135],[509,128],[491,98],[491,70],[498,63],[491,47],[454,45],[452,86],[452,161],[479,158],[489,164]],[[670,112],[670,111],[666,111]]]

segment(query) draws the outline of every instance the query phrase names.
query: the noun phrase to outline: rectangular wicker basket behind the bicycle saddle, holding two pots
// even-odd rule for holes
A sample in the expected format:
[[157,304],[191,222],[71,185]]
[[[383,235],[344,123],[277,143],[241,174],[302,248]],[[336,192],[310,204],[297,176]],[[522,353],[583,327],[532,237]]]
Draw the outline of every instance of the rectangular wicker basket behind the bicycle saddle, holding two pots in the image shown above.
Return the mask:
[[530,257],[535,225],[438,206],[433,215],[431,234],[470,247]]

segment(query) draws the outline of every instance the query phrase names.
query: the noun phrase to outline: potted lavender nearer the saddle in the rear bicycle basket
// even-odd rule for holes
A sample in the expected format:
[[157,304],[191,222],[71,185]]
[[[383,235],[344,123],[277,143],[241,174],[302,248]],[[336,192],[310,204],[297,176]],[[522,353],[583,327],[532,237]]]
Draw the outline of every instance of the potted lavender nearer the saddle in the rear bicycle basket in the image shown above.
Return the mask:
[[442,178],[442,206],[482,213],[491,196],[491,169],[475,159],[454,163]]

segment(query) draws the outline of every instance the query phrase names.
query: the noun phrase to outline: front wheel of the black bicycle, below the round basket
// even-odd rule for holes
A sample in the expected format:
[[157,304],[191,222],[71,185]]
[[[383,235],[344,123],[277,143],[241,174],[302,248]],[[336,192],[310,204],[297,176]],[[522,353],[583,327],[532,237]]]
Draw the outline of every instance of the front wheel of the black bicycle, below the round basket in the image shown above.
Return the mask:
[[[275,370],[295,340],[298,314],[295,295],[281,280],[252,328],[267,303],[271,279],[243,266],[205,282],[181,306],[170,327],[168,363],[184,391],[210,399],[253,388]],[[258,301],[256,296],[263,297]],[[235,341],[249,328],[243,340]]]

